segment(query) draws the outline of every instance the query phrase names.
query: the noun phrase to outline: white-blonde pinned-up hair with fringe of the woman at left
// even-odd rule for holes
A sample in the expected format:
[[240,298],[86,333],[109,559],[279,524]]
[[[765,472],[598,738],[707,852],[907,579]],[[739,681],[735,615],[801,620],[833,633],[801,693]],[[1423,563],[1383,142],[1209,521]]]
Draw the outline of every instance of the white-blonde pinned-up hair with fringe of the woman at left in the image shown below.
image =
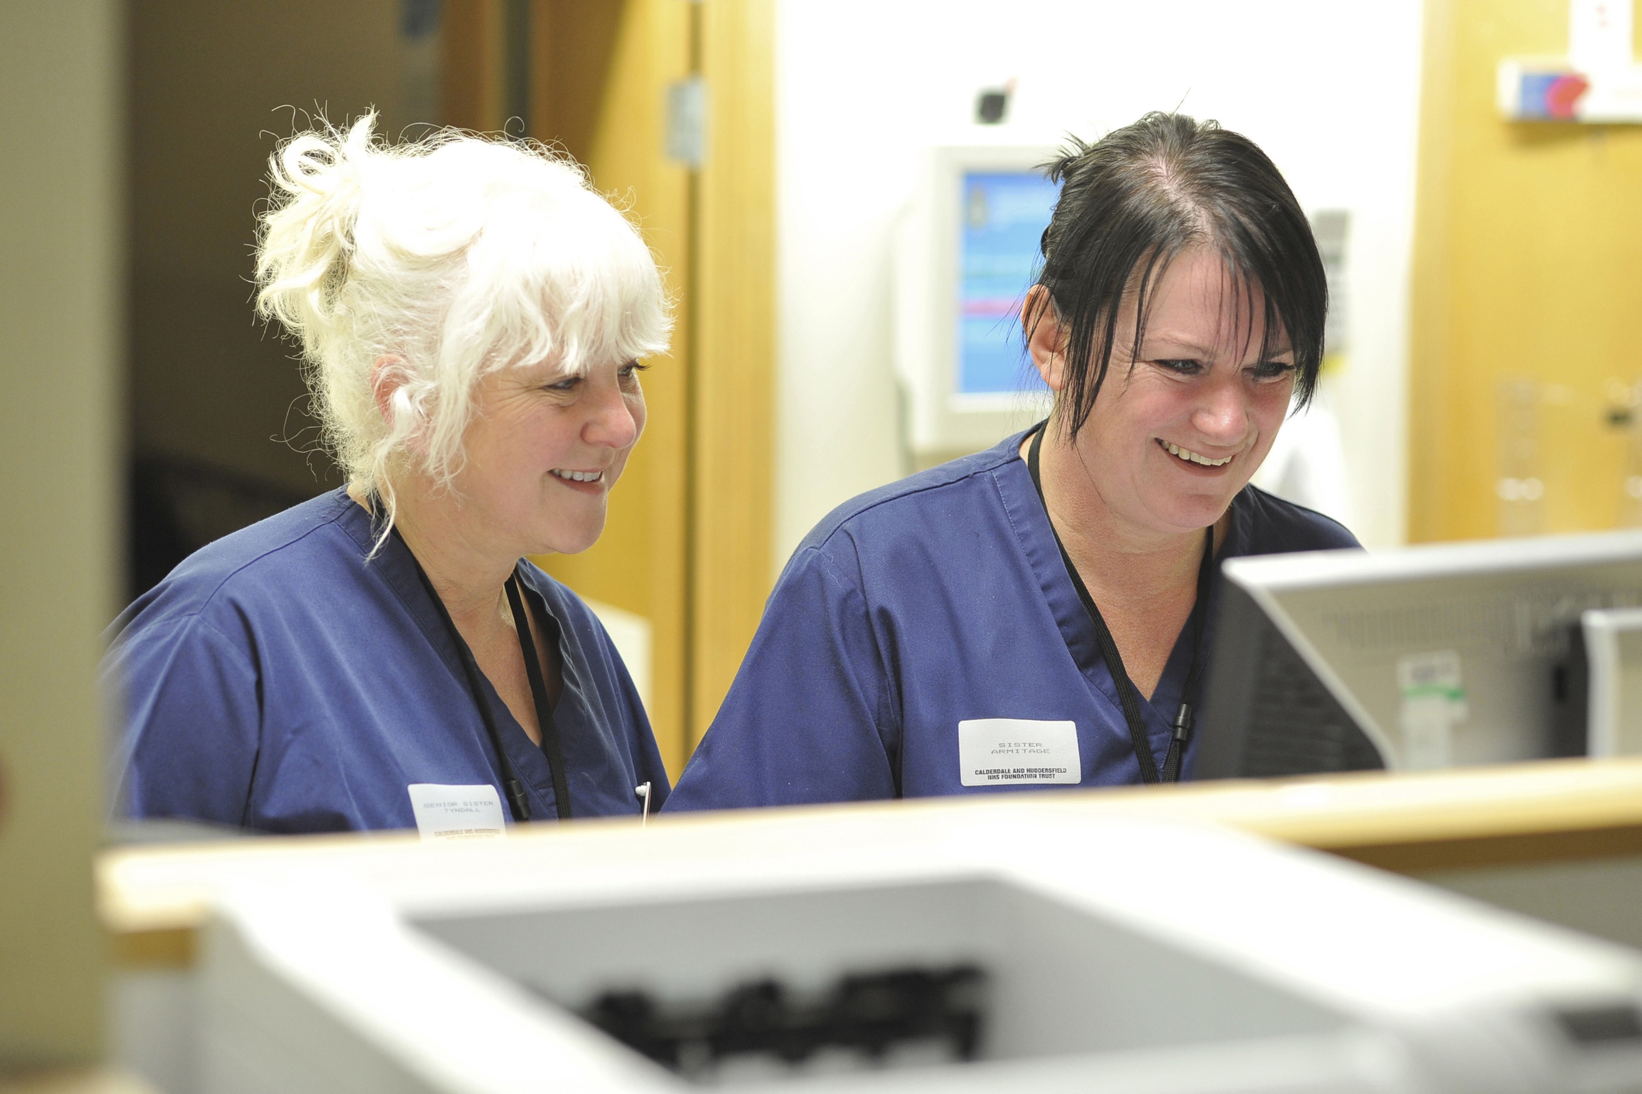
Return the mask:
[[[394,459],[456,472],[484,372],[662,353],[672,317],[637,230],[568,156],[456,130],[389,146],[374,126],[299,133],[269,159],[256,310],[302,343],[350,482],[391,507]],[[406,372],[388,418],[383,358]]]

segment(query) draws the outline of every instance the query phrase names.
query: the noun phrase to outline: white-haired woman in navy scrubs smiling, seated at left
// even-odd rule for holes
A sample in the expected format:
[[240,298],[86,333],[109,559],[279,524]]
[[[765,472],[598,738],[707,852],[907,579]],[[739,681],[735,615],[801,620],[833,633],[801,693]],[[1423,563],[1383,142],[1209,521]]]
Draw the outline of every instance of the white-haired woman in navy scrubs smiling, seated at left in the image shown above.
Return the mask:
[[258,310],[348,485],[200,549],[113,625],[120,802],[259,832],[478,835],[667,795],[581,551],[667,346],[655,262],[581,171],[374,118],[273,157]]

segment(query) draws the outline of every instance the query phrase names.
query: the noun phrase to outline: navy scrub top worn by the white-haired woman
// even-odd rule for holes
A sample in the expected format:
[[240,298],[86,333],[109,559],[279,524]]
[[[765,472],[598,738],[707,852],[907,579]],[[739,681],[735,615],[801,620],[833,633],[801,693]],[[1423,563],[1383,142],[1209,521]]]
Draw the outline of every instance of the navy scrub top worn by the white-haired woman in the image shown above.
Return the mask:
[[[456,645],[397,538],[366,561],[369,513],[325,494],[212,543],[110,628],[123,700],[120,809],[256,832],[414,828],[412,782],[498,787]],[[553,707],[573,815],[637,814],[667,771],[608,633],[565,586],[519,568],[560,630]],[[544,620],[545,623],[545,620]],[[545,627],[552,633],[552,627]],[[557,817],[542,748],[484,681],[532,820]]]

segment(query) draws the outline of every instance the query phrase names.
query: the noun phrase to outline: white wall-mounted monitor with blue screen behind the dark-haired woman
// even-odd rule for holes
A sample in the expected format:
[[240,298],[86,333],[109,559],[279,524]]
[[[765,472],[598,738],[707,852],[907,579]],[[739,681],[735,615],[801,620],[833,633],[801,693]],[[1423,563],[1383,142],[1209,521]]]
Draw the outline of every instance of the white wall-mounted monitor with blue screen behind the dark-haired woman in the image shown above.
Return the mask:
[[1020,307],[1059,197],[1051,144],[944,144],[923,157],[897,233],[895,369],[920,466],[997,443],[1048,412]]

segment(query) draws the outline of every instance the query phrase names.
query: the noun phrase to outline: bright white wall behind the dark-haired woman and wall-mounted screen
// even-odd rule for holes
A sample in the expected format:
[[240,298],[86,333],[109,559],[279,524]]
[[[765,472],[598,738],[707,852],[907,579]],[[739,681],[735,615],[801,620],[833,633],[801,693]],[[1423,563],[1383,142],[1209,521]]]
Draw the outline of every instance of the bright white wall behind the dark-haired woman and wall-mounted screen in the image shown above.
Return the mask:
[[1404,540],[1419,0],[783,0],[775,556],[901,472],[890,235],[918,148],[1015,77],[1023,139],[1179,108],[1258,141],[1302,205],[1348,208],[1342,417],[1355,530]]

